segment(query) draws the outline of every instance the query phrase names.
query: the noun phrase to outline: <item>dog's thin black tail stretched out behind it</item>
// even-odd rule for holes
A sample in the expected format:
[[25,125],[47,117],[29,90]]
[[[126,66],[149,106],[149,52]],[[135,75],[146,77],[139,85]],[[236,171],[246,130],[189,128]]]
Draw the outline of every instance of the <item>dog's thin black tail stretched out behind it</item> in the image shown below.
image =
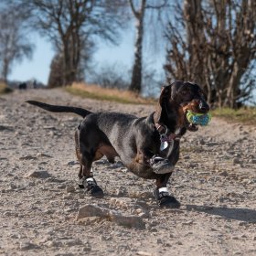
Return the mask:
[[76,114],[79,114],[82,117],[86,117],[88,114],[90,114],[90,111],[76,108],[76,107],[69,107],[69,106],[58,106],[58,105],[50,105],[39,101],[26,101],[27,103],[31,105],[35,105],[39,108],[42,108],[48,112],[73,112]]

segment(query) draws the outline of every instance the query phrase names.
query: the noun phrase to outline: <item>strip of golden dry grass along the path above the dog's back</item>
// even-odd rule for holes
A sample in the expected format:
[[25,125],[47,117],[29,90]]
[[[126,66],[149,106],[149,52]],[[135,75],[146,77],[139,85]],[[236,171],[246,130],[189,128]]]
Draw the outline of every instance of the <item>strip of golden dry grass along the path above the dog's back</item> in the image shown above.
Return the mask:
[[132,91],[106,89],[94,84],[74,83],[65,90],[82,98],[100,101],[115,101],[125,104],[155,104],[155,100],[143,98]]

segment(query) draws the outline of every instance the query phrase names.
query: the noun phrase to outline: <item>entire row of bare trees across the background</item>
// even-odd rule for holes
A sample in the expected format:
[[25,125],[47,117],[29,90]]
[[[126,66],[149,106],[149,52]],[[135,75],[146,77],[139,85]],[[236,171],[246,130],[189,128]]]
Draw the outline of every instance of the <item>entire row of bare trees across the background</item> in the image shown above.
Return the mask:
[[[0,4],[0,71],[30,58],[29,32],[55,49],[48,86],[85,80],[99,40],[118,45],[134,24],[130,91],[141,92],[144,43],[165,50],[165,80],[204,87],[208,102],[238,108],[256,89],[256,1],[251,0],[4,0]],[[160,43],[159,43],[160,42]],[[118,86],[118,84],[117,84]]]

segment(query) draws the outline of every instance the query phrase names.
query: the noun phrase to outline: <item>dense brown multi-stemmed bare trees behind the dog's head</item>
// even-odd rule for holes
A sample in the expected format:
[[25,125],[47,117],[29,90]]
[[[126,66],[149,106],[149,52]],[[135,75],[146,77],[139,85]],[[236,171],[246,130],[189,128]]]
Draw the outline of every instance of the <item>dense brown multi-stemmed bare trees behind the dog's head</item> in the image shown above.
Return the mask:
[[248,101],[255,88],[256,2],[185,0],[175,13],[166,31],[167,79],[196,81],[219,107]]

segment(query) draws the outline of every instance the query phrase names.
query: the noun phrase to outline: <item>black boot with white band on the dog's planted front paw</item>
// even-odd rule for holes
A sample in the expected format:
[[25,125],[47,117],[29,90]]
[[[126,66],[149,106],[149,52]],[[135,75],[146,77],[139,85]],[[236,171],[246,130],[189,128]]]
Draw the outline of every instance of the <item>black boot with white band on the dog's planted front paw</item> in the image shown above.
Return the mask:
[[176,200],[176,197],[169,195],[166,187],[156,188],[153,192],[153,196],[160,207],[165,208],[179,208],[180,202]]

